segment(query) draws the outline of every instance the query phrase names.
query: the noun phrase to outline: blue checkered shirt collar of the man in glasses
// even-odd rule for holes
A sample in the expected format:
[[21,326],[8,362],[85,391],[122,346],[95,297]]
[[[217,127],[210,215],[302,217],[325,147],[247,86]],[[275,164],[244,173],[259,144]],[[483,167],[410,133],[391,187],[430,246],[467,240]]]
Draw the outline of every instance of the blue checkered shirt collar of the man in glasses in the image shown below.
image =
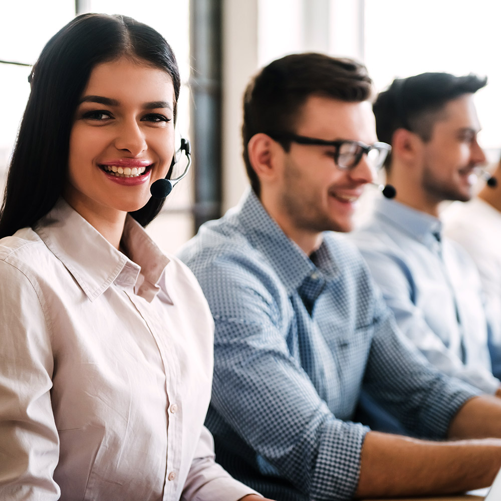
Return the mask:
[[252,189],[244,195],[239,219],[248,230],[250,242],[267,256],[288,294],[297,290],[307,276],[319,272],[329,276],[337,272],[325,239],[316,251],[317,268],[268,214]]

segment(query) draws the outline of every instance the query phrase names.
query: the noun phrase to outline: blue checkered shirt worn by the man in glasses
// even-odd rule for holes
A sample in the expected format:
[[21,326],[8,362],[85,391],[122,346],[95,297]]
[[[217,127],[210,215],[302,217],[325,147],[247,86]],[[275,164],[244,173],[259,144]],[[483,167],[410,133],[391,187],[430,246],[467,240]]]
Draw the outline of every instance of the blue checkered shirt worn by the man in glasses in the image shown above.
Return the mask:
[[253,191],[204,224],[180,257],[215,321],[205,424],[216,459],[269,497],[353,496],[368,431],[351,422],[362,388],[430,438],[443,438],[475,394],[396,334],[351,244],[327,232],[312,261]]

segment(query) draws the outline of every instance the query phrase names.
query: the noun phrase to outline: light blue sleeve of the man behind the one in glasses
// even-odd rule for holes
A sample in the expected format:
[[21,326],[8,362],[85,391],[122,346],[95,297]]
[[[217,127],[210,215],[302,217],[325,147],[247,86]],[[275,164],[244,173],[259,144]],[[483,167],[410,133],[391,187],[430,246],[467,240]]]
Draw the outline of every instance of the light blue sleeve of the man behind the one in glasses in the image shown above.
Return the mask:
[[412,301],[412,273],[391,252],[364,245],[362,254],[402,332],[426,359],[448,376],[462,379],[485,393],[493,394],[499,381],[489,370],[468,367],[445,346],[426,322],[424,312]]

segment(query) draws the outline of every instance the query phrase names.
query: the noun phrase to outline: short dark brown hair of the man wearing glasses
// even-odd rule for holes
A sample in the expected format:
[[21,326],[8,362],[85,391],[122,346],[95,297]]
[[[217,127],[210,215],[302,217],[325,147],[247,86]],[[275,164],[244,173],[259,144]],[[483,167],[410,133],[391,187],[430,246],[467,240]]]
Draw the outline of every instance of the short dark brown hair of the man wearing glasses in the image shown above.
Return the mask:
[[[243,96],[243,160],[250,185],[260,195],[260,183],[250,165],[247,145],[255,134],[294,133],[300,108],[312,95],[347,102],[372,97],[372,80],[365,66],[325,54],[292,54],[273,61],[248,84]],[[290,143],[282,142],[286,151]]]

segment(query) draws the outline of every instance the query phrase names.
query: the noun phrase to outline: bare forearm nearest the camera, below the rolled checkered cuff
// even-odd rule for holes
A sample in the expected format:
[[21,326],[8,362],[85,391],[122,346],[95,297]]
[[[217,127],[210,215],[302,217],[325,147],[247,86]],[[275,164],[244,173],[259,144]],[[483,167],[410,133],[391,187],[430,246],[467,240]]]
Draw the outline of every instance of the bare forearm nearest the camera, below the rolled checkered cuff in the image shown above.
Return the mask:
[[356,496],[464,492],[490,485],[500,466],[500,439],[431,442],[371,431]]

